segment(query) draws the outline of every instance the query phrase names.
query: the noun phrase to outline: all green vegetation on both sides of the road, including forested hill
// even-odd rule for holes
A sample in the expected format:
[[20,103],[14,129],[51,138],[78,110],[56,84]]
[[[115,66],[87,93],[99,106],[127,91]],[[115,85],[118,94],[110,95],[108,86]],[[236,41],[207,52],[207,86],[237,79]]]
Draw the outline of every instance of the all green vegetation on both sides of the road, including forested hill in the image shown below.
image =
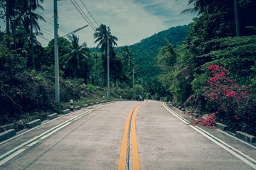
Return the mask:
[[256,1],[189,0],[194,7],[182,13],[198,13],[189,26],[131,46],[117,47],[118,38],[104,24],[95,32],[93,49],[80,45],[76,35],[59,38],[60,104],[54,98],[53,40],[42,47],[35,36],[43,17],[33,11],[40,3],[12,0],[7,15],[5,1],[0,2],[1,18],[10,21],[10,32],[0,33],[0,97],[6,106],[1,107],[0,125],[59,112],[70,98],[102,100],[109,38],[112,98],[139,99],[146,83],[149,98],[214,113],[231,131],[256,135]]

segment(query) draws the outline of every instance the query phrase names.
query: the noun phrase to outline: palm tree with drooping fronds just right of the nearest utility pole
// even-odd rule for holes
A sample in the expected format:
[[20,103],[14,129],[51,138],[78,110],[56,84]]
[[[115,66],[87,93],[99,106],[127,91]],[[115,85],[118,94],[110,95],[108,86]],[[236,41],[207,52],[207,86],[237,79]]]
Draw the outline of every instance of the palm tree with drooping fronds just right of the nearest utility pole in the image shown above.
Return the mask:
[[60,57],[60,60],[65,60],[65,69],[70,69],[73,73],[73,79],[75,79],[75,74],[80,67],[82,67],[82,60],[89,60],[86,53],[89,52],[86,43],[84,42],[82,45],[79,45],[79,38],[75,35],[68,35],[68,39],[70,43],[67,45],[69,52]]

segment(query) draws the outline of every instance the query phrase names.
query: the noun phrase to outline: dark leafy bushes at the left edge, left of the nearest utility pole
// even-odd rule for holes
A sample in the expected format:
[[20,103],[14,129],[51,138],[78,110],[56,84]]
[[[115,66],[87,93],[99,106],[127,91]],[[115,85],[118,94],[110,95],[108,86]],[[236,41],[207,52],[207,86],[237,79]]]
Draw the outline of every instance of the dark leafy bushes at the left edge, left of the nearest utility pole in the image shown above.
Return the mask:
[[0,125],[29,116],[39,118],[46,112],[58,112],[54,89],[50,81],[35,71],[8,74],[0,72],[3,107],[0,108]]

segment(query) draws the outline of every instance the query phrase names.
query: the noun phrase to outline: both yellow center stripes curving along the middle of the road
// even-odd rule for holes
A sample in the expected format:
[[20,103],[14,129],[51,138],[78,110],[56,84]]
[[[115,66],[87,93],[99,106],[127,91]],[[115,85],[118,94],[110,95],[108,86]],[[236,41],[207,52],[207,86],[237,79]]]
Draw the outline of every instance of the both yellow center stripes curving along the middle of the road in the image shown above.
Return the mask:
[[139,153],[138,153],[138,146],[137,146],[135,118],[136,118],[137,109],[141,105],[142,105],[142,103],[139,103],[132,108],[132,110],[129,112],[127,121],[125,123],[121,154],[119,157],[118,170],[125,170],[125,167],[127,164],[127,161],[126,161],[126,159],[127,159],[127,140],[129,137],[128,134],[129,134],[129,125],[130,125],[131,118],[132,118],[132,168],[134,170],[139,170]]

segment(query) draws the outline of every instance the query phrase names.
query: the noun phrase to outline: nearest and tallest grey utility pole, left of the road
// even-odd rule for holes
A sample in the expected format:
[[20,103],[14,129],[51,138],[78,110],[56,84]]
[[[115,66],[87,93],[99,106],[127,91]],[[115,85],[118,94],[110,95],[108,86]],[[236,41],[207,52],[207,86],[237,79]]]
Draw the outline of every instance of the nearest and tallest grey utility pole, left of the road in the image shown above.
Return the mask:
[[55,69],[55,102],[60,103],[60,79],[58,63],[58,11],[57,0],[53,0],[54,13],[54,69]]

